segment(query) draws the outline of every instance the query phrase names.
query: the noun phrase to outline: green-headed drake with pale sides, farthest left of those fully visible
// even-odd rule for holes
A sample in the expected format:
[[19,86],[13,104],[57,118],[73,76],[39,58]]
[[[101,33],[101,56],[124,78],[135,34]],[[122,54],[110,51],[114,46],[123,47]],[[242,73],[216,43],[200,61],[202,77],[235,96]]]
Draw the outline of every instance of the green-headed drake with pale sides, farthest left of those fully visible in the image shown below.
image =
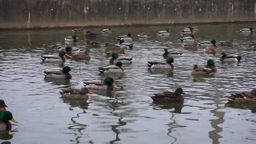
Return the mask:
[[43,55],[40,58],[43,62],[65,62],[66,59],[64,56],[71,57],[65,51],[60,51],[59,55]]

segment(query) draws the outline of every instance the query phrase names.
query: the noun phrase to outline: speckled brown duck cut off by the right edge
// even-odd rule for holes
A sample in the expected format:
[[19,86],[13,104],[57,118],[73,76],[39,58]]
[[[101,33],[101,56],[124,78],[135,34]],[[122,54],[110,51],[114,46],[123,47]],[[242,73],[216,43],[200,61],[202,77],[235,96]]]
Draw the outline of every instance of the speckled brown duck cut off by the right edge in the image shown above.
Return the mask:
[[228,97],[229,103],[256,103],[256,88],[251,92],[233,93]]

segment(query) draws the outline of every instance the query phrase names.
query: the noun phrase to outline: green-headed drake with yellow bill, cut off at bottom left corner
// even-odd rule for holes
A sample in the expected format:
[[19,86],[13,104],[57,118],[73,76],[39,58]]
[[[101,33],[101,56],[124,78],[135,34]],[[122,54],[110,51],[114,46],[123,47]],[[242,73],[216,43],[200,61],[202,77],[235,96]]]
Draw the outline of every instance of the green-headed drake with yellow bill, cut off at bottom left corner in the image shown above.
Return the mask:
[[9,121],[18,123],[18,121],[16,121],[16,119],[13,118],[13,115],[11,114],[11,112],[6,110],[0,112],[0,131],[11,129],[11,124]]

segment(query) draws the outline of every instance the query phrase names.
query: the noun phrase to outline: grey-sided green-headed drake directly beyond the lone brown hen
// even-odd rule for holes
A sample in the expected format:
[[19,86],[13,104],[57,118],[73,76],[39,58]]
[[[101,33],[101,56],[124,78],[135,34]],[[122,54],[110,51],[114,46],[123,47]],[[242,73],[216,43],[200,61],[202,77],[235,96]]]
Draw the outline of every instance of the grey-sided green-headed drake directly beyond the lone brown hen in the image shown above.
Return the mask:
[[174,67],[172,63],[176,64],[174,59],[172,57],[169,57],[166,59],[166,61],[149,61],[147,62],[147,65],[149,68],[173,70]]

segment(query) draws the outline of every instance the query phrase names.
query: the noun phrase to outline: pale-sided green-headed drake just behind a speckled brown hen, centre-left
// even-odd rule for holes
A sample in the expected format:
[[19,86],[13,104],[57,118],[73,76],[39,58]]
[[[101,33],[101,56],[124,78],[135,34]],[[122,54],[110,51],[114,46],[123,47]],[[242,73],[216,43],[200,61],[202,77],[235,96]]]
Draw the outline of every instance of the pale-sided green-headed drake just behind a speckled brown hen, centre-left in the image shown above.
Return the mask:
[[104,80],[91,80],[82,82],[82,84],[86,88],[94,88],[94,89],[114,89],[117,87],[117,84],[114,83],[112,77],[106,77]]

